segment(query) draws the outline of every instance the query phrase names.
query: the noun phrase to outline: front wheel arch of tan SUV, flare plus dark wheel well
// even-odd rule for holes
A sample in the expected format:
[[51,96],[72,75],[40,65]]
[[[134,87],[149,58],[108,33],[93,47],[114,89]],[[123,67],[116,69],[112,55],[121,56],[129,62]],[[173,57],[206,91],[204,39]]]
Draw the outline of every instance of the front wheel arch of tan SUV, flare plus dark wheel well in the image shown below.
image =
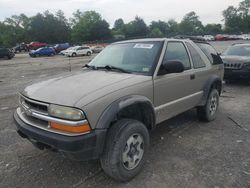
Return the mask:
[[138,120],[149,130],[154,128],[156,122],[152,102],[145,96],[130,95],[112,102],[98,119],[96,129],[108,129],[123,118]]

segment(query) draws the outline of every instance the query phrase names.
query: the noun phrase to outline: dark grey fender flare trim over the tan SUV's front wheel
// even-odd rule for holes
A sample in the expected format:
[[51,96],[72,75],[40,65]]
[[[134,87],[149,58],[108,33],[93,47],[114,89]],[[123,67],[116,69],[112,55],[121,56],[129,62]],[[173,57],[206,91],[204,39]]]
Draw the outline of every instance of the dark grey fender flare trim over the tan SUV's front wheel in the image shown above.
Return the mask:
[[107,129],[110,127],[112,121],[116,119],[117,114],[124,108],[135,104],[145,104],[149,107],[152,114],[152,125],[154,127],[156,122],[156,115],[154,111],[154,106],[152,102],[145,96],[141,95],[129,95],[122,97],[114,102],[112,102],[100,116],[96,129]]

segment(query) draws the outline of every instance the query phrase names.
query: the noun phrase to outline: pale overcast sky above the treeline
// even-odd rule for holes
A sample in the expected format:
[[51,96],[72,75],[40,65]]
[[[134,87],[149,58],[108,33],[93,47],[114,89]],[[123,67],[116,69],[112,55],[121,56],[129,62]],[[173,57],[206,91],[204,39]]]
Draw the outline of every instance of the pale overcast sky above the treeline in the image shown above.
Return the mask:
[[153,20],[181,21],[183,16],[195,11],[204,23],[223,23],[222,11],[229,5],[238,6],[243,0],[0,0],[0,21],[13,14],[24,13],[33,16],[49,10],[61,9],[67,18],[77,9],[95,10],[111,26],[118,18],[127,23],[142,17],[147,24]]

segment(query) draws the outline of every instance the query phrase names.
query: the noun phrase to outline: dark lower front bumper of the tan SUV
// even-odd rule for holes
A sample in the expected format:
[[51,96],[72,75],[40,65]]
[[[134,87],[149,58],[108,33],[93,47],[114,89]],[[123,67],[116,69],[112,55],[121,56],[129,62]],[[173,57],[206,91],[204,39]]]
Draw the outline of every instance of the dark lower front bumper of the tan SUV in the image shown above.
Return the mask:
[[77,161],[98,159],[102,154],[106,129],[98,129],[86,135],[72,137],[33,127],[23,122],[16,112],[14,113],[14,120],[18,134],[23,138],[27,138],[39,149],[58,151]]

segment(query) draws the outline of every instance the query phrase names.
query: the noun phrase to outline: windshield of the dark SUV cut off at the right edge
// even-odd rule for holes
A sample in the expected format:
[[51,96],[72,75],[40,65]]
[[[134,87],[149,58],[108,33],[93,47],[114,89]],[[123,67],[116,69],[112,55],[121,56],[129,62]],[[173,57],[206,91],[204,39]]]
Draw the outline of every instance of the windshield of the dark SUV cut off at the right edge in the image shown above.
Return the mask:
[[223,55],[230,56],[250,56],[250,45],[249,46],[231,46]]

